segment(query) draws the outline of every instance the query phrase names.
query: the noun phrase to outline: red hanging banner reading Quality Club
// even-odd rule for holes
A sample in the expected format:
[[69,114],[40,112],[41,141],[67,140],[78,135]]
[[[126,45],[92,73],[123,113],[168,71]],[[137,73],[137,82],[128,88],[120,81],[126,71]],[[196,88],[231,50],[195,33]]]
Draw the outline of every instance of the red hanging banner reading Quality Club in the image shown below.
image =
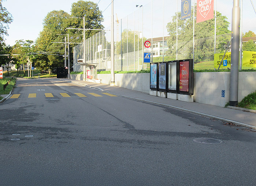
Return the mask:
[[214,0],[197,0],[196,23],[214,18]]

